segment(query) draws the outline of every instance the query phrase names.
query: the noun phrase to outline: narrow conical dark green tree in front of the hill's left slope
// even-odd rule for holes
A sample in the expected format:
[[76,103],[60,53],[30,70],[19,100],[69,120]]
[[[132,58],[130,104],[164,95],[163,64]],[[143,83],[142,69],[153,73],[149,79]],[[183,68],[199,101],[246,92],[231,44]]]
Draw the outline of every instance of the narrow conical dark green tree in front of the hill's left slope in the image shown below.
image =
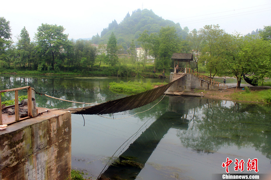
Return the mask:
[[106,51],[109,63],[111,64],[111,66],[115,66],[118,62],[118,46],[117,39],[113,32],[111,33],[111,36],[108,40]]

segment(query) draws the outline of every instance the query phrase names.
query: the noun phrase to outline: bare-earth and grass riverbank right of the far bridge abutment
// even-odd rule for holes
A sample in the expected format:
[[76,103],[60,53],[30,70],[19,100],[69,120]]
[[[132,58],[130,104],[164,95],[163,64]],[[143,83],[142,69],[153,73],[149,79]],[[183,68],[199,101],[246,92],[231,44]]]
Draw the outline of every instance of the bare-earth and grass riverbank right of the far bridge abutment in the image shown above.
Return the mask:
[[228,88],[225,91],[192,89],[192,92],[200,93],[205,98],[230,100],[236,102],[248,102],[257,104],[270,104],[271,87]]

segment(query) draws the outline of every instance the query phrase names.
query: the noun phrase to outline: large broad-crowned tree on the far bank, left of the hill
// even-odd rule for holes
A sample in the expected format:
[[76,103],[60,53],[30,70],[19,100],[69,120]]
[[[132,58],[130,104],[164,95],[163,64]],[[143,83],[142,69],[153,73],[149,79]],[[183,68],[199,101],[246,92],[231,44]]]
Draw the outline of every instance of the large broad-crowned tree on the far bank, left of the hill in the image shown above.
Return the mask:
[[[41,24],[36,33],[39,53],[48,64],[48,69],[54,68],[57,57],[65,52],[68,43],[68,35],[64,34],[63,26]],[[59,64],[61,65],[61,64]]]

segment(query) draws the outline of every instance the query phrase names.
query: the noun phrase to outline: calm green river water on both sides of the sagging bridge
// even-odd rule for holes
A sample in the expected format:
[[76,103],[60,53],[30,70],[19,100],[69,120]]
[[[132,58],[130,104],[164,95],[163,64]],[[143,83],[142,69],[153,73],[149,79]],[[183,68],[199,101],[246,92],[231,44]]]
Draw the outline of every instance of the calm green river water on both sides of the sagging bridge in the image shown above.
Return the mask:
[[[108,89],[110,82],[119,80],[127,79],[1,76],[0,89],[31,86],[57,98],[105,102],[126,96],[116,96],[117,93]],[[7,96],[14,98],[12,94]],[[82,115],[72,115],[72,168],[84,170],[88,173],[86,177],[93,179],[105,165],[109,167],[103,176],[110,179],[211,179],[214,173],[226,173],[222,163],[228,157],[233,160],[230,173],[255,173],[247,171],[246,165],[248,159],[255,158],[259,173],[271,172],[270,105],[161,98],[113,115],[84,115],[85,126]],[[151,108],[159,100],[149,111],[131,116]],[[36,95],[36,101],[38,106],[47,108],[74,105],[40,95]],[[235,159],[244,160],[243,172],[234,171]]]

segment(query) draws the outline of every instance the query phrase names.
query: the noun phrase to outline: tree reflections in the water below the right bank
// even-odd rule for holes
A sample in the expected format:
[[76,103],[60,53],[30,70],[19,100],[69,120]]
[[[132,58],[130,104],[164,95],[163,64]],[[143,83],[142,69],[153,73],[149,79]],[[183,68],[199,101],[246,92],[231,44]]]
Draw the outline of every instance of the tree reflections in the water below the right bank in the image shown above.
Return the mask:
[[225,145],[252,146],[271,159],[271,110],[268,105],[210,102],[178,136],[186,147],[213,152]]

